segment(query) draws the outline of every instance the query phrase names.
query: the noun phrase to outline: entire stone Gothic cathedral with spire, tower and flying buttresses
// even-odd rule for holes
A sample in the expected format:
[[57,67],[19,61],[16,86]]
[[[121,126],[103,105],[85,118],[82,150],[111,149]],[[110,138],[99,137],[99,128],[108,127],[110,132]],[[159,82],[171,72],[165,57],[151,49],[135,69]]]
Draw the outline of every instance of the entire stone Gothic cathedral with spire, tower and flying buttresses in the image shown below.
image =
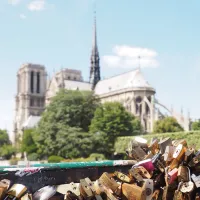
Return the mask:
[[146,132],[153,130],[156,120],[165,117],[158,105],[174,116],[184,130],[189,130],[189,116],[168,109],[155,99],[155,89],[145,80],[140,68],[104,80],[100,76],[100,58],[97,45],[96,19],[90,58],[89,81],[75,69],[62,69],[49,80],[45,66],[23,64],[17,73],[17,95],[14,119],[14,141],[22,135],[23,129],[32,128],[40,120],[45,106],[60,88],[68,90],[93,90],[103,102],[121,102],[127,111],[137,116]]

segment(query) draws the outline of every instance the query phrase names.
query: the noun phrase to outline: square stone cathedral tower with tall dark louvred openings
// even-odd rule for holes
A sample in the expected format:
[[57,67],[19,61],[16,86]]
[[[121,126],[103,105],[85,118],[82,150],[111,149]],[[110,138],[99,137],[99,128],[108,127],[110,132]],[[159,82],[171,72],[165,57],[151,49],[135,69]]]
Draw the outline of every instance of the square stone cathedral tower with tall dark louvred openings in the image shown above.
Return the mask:
[[29,116],[40,116],[45,108],[45,67],[24,64],[17,73],[17,95],[14,120],[14,140],[22,134],[23,124]]

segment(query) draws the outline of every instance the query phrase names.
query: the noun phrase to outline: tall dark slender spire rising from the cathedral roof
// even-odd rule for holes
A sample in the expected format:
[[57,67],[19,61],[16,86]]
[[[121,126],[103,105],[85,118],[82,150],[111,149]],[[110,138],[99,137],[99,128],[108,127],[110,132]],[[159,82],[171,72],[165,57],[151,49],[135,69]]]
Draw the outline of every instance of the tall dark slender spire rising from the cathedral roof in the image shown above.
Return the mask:
[[95,88],[98,81],[101,79],[100,76],[100,66],[99,66],[99,51],[97,46],[97,31],[96,31],[96,13],[94,16],[94,35],[92,44],[92,54],[90,57],[90,83],[92,84],[92,89]]

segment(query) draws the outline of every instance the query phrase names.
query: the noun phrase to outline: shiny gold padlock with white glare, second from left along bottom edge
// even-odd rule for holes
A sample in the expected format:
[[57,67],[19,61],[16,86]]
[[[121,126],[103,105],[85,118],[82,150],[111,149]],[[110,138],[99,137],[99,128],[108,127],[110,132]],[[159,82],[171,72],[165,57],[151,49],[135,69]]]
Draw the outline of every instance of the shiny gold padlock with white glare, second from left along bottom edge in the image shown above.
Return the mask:
[[5,199],[19,199],[27,191],[26,186],[22,184],[14,184],[6,193]]

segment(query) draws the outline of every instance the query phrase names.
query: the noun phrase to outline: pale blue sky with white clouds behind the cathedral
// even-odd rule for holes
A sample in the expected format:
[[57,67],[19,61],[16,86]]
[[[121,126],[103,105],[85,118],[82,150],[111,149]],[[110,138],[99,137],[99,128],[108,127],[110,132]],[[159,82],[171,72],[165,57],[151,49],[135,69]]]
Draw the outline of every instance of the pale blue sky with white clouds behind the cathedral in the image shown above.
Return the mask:
[[[200,117],[198,1],[96,0],[101,75],[142,71],[156,97]],[[16,73],[26,62],[89,76],[94,0],[0,1],[0,128],[12,130]]]

